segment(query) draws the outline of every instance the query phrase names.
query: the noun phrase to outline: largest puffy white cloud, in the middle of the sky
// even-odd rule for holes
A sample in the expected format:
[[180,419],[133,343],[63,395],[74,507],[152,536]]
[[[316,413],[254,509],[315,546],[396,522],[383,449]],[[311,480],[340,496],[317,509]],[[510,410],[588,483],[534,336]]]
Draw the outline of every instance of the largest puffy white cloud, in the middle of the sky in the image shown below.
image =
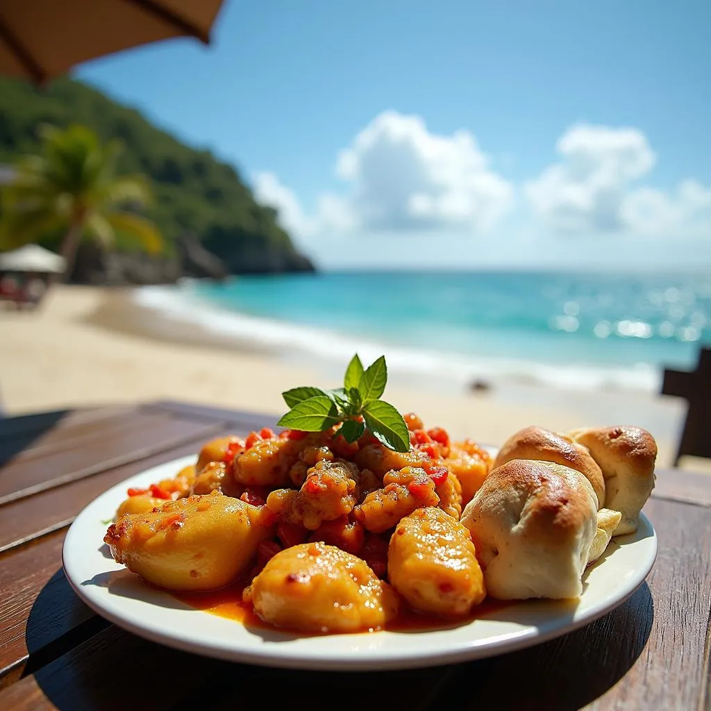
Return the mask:
[[336,173],[346,195],[321,195],[308,217],[272,173],[255,178],[257,200],[279,210],[300,235],[367,230],[485,232],[506,213],[513,187],[488,169],[474,136],[429,133],[417,116],[384,112],[341,151]]

